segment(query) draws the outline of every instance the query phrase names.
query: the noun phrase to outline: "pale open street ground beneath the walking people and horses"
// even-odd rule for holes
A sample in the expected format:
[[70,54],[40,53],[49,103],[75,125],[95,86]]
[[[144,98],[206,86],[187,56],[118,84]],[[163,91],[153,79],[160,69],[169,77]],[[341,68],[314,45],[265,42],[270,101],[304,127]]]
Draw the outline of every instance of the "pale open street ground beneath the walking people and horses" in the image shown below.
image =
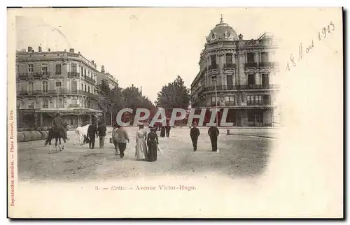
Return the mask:
[[[114,155],[114,147],[109,143],[111,127],[108,128],[105,147],[95,148],[88,145],[73,145],[74,133],[69,131],[70,140],[62,152],[44,147],[44,140],[18,143],[18,174],[20,181],[62,182],[89,180],[118,180],[125,177],[174,175],[186,176],[193,173],[219,173],[229,177],[251,177],[265,171],[271,154],[273,139],[258,135],[269,133],[264,130],[232,130],[235,135],[226,135],[221,131],[218,137],[219,152],[211,152],[211,143],[207,128],[200,128],[197,152],[189,137],[189,129],[175,128],[170,138],[159,138],[164,155],[158,152],[158,161],[136,161],[134,157],[137,127],[127,127],[130,143],[127,144],[125,157]],[[265,133],[264,133],[265,132]],[[159,135],[159,131],[158,131]]]

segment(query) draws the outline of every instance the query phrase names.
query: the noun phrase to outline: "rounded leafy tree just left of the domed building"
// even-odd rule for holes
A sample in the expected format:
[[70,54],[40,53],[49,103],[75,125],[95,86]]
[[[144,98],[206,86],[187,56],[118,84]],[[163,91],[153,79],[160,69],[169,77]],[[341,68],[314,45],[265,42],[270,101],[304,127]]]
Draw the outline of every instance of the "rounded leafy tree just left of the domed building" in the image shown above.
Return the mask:
[[168,112],[174,108],[187,109],[189,104],[190,89],[185,86],[185,82],[179,75],[174,82],[162,87],[155,101],[156,106],[165,108]]

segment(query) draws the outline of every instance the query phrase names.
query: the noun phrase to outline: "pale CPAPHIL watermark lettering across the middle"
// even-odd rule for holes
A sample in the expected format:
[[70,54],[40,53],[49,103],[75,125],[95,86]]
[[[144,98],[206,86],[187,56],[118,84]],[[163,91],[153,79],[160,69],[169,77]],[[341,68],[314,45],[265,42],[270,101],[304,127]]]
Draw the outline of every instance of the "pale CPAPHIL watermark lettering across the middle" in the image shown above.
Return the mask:
[[[231,122],[226,122],[226,119],[228,117],[228,108],[221,108],[223,109],[223,113],[221,115],[221,123],[220,126],[233,126],[233,123]],[[200,114],[195,114],[195,108],[191,109],[190,112],[184,110],[183,108],[174,108],[172,110],[172,115],[170,118],[167,117],[165,113],[164,108],[158,108],[157,113],[153,116],[150,126],[154,126],[155,123],[161,123],[162,126],[167,126],[167,119],[169,119],[169,125],[174,126],[176,121],[181,121],[182,119],[185,119],[186,116],[188,116],[188,121],[187,121],[187,126],[192,126],[193,124],[193,119],[199,119],[197,122],[197,126],[203,126],[204,123],[204,118],[207,113],[207,108],[202,108]],[[211,112],[211,117],[210,117],[210,122],[207,123],[207,126],[216,126],[215,119],[218,114],[218,109],[216,108],[209,108]],[[116,122],[120,126],[130,126],[130,121],[129,122],[123,122],[122,121],[122,116],[124,113],[134,113],[132,108],[123,108],[123,110],[120,110],[117,114],[116,117]],[[144,115],[141,116],[141,113]],[[146,108],[138,108],[135,113],[134,117],[134,123],[132,124],[133,126],[137,126],[142,121],[145,121],[149,119],[151,113],[150,110]]]

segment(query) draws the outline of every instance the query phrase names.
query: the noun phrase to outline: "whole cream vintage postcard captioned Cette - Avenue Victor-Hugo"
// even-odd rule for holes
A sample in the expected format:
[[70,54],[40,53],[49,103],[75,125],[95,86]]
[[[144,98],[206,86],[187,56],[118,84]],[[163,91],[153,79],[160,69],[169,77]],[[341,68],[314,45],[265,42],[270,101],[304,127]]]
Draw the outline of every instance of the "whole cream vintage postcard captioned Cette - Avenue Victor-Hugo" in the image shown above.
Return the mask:
[[8,8],[8,217],[343,218],[342,8]]

